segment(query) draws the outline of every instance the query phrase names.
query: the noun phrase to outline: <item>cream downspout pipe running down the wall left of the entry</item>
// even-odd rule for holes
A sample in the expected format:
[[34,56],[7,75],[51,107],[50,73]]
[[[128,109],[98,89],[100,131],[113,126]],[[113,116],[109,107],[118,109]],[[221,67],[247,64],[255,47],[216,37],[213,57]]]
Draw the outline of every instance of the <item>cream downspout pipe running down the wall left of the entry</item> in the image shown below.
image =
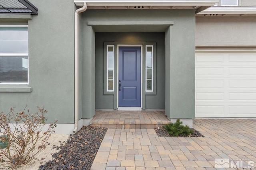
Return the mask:
[[86,11],[87,4],[84,2],[82,8],[78,8],[75,12],[75,128],[73,133],[78,131],[79,121],[79,14]]

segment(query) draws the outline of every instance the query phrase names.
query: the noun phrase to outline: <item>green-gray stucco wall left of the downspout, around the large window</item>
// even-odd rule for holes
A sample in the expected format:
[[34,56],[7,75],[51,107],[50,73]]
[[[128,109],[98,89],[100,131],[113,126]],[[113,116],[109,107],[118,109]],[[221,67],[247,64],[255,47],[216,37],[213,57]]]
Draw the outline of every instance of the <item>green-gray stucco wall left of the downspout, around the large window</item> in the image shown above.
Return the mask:
[[[74,123],[76,6],[73,0],[30,2],[38,8],[38,16],[27,21],[24,17],[1,19],[1,24],[28,24],[29,84],[0,85],[1,91],[18,91],[0,92],[0,111],[8,113],[10,107],[22,111],[28,104],[30,112],[37,111],[36,106],[47,109],[48,122],[58,119],[58,123]],[[32,92],[20,92],[27,87],[32,87]]]

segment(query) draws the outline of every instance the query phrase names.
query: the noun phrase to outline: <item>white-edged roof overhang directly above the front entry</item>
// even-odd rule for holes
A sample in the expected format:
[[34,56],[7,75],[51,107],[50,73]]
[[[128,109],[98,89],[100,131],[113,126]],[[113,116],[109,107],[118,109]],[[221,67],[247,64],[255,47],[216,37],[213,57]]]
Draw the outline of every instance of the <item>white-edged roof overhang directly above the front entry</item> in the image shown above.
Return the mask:
[[[74,0],[76,6],[86,2],[88,9],[195,9],[201,12],[219,0]],[[135,8],[135,7],[143,8]]]

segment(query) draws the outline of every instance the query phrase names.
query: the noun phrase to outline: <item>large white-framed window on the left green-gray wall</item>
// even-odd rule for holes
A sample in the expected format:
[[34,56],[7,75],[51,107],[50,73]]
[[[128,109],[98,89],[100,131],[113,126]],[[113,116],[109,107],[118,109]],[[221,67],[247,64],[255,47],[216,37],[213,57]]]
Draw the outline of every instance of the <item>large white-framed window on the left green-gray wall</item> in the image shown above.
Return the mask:
[[0,25],[0,83],[28,84],[28,25]]

